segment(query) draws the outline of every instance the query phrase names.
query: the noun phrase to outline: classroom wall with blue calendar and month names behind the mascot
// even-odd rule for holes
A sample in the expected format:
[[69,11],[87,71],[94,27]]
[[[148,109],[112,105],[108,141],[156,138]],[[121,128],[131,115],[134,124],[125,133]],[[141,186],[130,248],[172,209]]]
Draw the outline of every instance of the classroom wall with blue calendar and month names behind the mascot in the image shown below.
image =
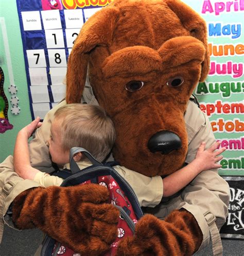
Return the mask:
[[[61,19],[61,27],[54,23],[45,25],[41,20],[41,29],[34,31],[32,28],[24,27],[26,20],[23,15],[28,11],[38,11],[38,16],[41,18],[43,12],[39,11],[42,11],[42,4],[45,3],[45,0],[8,2],[0,0],[0,66],[5,76],[4,92],[9,104],[7,119],[13,126],[12,129],[0,133],[0,162],[12,154],[16,133],[28,124],[34,116],[44,116],[45,112],[58,102],[62,95],[57,94],[57,91],[64,93],[61,80],[65,72],[58,72],[60,76],[56,77],[56,80],[52,75],[54,70],[65,71],[66,59],[72,47],[72,35],[76,35],[74,32],[79,31],[78,27],[74,27],[72,24],[68,25],[67,20],[65,21],[64,11],[67,8],[82,10],[81,15],[83,15],[83,22],[85,22],[92,13],[89,10],[93,11],[92,8],[100,7],[98,5],[101,3],[101,1],[90,0],[83,2],[86,4],[97,2],[97,5],[80,8],[75,0],[62,1],[63,4],[58,1],[62,10],[56,11],[55,15],[58,12],[59,16],[60,13],[58,19]],[[105,3],[106,1],[102,2]],[[244,139],[243,115],[241,113],[243,113],[244,88],[242,19],[244,0],[232,2],[226,0],[222,2],[184,0],[183,2],[193,7],[206,20],[208,26],[208,41],[212,45],[210,48],[212,50],[211,72],[206,82],[198,85],[195,95],[201,103],[202,110],[207,113],[211,120],[216,138],[222,141],[222,146],[228,147],[228,150],[223,153],[224,159],[221,162],[223,168],[220,169],[219,173],[221,175],[243,175]],[[20,15],[18,15],[17,7]],[[45,8],[48,9],[49,7],[45,6]],[[55,13],[55,11],[51,12]],[[27,14],[30,16],[29,13]],[[54,29],[58,28],[58,30],[63,31],[61,33],[62,38],[59,38],[58,33],[54,36],[54,30],[48,30],[49,25],[54,26]],[[68,29],[66,30],[66,28]],[[38,46],[37,43],[32,45],[28,43],[30,36],[33,42],[37,40],[37,38],[35,39],[36,32],[39,32],[39,39],[43,40],[41,46]],[[47,33],[51,35],[49,41],[46,39]],[[56,43],[59,40],[62,41],[61,46],[56,47],[59,48],[57,53],[63,58],[61,63],[54,62],[56,52],[55,46],[51,46],[51,40],[56,40]],[[234,51],[228,50],[226,47],[234,47]],[[35,59],[32,59],[32,64],[30,63],[27,53],[32,53],[32,55],[37,53],[29,51],[30,49],[42,49],[42,53],[45,54],[44,65],[35,67]],[[53,59],[50,57],[51,54],[54,55]],[[33,71],[38,71],[38,69],[40,72],[44,70],[45,79],[33,77]],[[18,89],[15,94],[9,92],[10,84]],[[55,92],[54,88],[58,90]],[[15,88],[12,87],[11,90],[14,91]],[[16,98],[11,99],[11,97],[18,97],[18,104],[16,104]]]

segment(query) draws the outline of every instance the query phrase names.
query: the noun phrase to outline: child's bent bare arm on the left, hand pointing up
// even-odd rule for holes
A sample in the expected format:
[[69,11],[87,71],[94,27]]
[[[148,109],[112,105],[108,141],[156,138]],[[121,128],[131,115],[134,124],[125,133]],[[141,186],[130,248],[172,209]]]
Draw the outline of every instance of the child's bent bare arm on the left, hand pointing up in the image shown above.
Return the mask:
[[30,165],[28,139],[33,131],[41,125],[40,117],[37,117],[29,125],[21,129],[17,135],[13,152],[13,163],[15,172],[23,179],[33,180],[34,176],[40,172]]

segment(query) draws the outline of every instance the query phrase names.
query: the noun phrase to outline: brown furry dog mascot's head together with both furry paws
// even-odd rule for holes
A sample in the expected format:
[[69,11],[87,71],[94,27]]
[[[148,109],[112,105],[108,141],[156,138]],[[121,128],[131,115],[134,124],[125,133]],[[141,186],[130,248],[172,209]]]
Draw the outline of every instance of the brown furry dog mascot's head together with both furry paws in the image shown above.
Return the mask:
[[[82,27],[68,59],[66,101],[80,102],[89,67],[95,96],[115,124],[113,155],[121,165],[151,177],[184,164],[184,112],[208,74],[206,36],[204,21],[178,0],[115,0]],[[62,198],[62,211],[74,217],[71,195],[79,198],[74,204],[80,215],[72,224],[67,215],[60,216],[65,228],[59,232],[54,206],[60,207]],[[102,255],[116,237],[118,215],[113,206],[102,204],[106,199],[107,192],[96,185],[91,190],[27,190],[14,200],[13,219],[19,228],[36,226],[82,255]],[[48,210],[48,203],[55,210]],[[82,230],[74,230],[74,223]],[[97,230],[103,232],[102,242],[94,238]],[[184,209],[165,220],[147,214],[117,254],[191,255],[202,239],[196,219]]]

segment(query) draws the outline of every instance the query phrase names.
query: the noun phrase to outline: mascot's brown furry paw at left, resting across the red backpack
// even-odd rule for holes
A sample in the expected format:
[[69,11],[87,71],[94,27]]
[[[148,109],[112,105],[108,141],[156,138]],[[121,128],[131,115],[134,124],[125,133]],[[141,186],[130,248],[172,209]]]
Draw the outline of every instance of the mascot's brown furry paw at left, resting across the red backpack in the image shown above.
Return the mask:
[[85,255],[100,255],[117,235],[119,211],[105,203],[109,191],[97,184],[29,189],[12,204],[19,229],[37,227]]

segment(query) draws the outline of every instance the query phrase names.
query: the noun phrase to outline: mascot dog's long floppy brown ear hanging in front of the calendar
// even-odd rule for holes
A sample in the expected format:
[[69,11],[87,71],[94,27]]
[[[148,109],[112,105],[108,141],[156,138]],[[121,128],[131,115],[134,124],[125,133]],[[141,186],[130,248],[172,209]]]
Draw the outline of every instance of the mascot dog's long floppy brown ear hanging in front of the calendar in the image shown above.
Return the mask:
[[68,104],[80,103],[90,52],[96,46],[110,44],[116,16],[115,8],[106,7],[96,12],[83,25],[68,57],[66,74],[66,102]]

